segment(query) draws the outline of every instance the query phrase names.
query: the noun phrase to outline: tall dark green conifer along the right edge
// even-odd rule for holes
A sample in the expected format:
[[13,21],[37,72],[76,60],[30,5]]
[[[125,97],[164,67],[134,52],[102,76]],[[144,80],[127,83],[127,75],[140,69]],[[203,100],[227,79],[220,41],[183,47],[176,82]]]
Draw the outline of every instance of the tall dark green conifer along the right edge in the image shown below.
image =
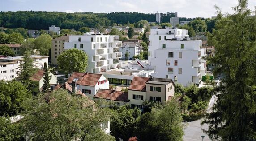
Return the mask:
[[[222,141],[256,139],[256,16],[247,9],[247,0],[238,0],[234,14],[218,11],[213,34],[215,46],[211,59],[222,74],[216,91],[218,99],[204,123],[205,133]],[[253,14],[253,16],[251,16]]]

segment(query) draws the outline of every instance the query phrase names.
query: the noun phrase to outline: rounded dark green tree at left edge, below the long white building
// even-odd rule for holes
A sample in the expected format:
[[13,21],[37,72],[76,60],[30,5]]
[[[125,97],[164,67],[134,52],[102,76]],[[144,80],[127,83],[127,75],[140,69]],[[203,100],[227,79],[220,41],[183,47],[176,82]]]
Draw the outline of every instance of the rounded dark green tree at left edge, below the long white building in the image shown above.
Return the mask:
[[0,81],[0,116],[14,116],[23,110],[21,103],[31,97],[26,86],[18,81]]

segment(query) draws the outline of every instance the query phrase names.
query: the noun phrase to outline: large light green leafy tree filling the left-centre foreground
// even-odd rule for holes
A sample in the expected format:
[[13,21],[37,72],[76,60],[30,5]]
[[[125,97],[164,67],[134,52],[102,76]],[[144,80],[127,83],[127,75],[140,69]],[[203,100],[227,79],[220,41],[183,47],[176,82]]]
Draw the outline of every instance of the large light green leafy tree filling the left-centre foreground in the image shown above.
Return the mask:
[[27,116],[21,120],[23,133],[35,141],[115,141],[99,126],[109,120],[109,109],[93,110],[88,102],[88,97],[62,89],[28,99],[24,102]]

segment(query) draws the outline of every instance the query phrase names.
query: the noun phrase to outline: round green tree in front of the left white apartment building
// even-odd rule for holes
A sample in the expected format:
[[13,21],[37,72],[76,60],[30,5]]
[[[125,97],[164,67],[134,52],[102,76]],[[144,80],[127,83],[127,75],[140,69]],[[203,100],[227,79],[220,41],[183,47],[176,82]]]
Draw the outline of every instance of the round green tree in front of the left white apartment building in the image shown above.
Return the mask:
[[74,72],[85,72],[88,56],[77,48],[68,49],[57,58],[59,67],[71,76]]

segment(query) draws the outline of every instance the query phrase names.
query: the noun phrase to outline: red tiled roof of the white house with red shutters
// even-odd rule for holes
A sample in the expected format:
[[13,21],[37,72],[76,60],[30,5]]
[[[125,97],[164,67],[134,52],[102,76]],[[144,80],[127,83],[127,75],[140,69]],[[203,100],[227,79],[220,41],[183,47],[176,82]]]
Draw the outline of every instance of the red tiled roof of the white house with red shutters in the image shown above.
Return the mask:
[[79,73],[74,72],[71,77],[68,78],[67,83],[71,84],[74,78],[78,78],[77,84],[83,86],[95,86],[102,74],[96,73]]

